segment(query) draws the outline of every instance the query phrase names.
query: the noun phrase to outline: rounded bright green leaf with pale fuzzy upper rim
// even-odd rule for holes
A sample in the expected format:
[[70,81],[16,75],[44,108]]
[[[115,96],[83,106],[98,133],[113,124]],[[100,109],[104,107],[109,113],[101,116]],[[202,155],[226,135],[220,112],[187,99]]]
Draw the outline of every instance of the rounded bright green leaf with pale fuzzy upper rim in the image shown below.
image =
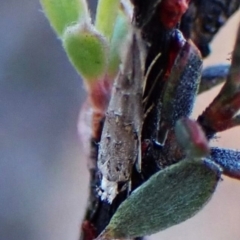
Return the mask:
[[92,25],[84,23],[68,27],[63,35],[63,46],[73,66],[87,83],[105,74],[108,45]]

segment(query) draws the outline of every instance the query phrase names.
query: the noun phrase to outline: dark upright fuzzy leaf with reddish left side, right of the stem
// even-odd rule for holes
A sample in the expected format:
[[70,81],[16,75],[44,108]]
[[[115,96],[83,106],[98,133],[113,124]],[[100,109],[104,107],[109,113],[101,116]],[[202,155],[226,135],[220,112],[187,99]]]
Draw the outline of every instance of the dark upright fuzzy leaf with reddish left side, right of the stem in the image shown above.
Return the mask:
[[169,127],[192,112],[202,69],[198,49],[186,42],[180,49],[171,69],[163,95],[162,118]]

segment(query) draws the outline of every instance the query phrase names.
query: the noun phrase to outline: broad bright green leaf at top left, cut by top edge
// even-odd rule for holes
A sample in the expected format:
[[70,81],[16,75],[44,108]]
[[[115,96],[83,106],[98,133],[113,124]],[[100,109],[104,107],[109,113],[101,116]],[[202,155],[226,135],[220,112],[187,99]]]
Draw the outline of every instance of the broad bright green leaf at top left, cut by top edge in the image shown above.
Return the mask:
[[90,21],[85,0],[40,0],[42,8],[56,33],[61,37],[65,28],[78,21]]

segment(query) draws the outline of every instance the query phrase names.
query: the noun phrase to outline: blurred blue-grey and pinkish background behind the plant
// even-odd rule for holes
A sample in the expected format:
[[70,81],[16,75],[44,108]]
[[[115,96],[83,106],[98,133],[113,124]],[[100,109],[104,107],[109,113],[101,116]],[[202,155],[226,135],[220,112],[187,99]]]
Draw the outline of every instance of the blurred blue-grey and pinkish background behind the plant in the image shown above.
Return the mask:
[[[77,240],[88,188],[76,128],[83,85],[38,0],[0,3],[0,240]],[[228,62],[239,19],[205,65]],[[194,117],[219,89],[198,98]],[[240,149],[239,136],[235,128],[212,144]],[[239,240],[240,182],[224,177],[203,211],[150,239]]]

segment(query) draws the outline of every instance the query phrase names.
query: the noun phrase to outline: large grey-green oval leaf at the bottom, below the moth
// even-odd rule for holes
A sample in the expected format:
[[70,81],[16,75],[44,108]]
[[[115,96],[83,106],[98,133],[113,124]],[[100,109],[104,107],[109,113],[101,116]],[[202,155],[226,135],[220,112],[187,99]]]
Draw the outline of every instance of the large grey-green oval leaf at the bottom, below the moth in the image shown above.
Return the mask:
[[189,159],[157,172],[119,206],[97,239],[146,236],[187,220],[209,201],[220,174],[212,161]]

